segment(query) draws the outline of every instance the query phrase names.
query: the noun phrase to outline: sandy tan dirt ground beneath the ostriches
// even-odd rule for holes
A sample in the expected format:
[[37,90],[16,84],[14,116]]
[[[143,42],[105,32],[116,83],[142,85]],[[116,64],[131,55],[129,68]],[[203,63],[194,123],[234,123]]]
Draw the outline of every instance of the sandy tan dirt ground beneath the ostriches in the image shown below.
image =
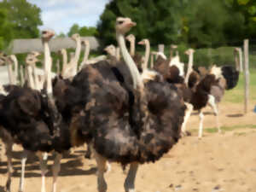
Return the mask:
[[[207,112],[211,111],[209,109]],[[221,103],[220,122],[224,126],[237,126],[234,131],[207,133],[199,140],[198,115],[189,119],[188,130],[191,137],[183,137],[161,160],[154,164],[139,167],[136,180],[137,192],[255,192],[256,191],[256,113],[252,107],[246,116],[243,106],[234,103]],[[255,119],[254,119],[255,118]],[[204,127],[214,127],[212,114],[205,116]],[[247,127],[248,126],[248,127]],[[2,145],[3,148],[3,145]],[[73,153],[61,160],[61,173],[58,179],[58,192],[95,192],[95,160],[84,159],[85,148],[75,148]],[[6,158],[1,151],[0,192],[6,181]],[[20,148],[15,146],[14,177],[12,191],[18,191],[20,177]],[[49,169],[52,159],[49,160]],[[108,191],[125,191],[125,174],[118,164],[112,164],[112,171],[106,174]],[[51,172],[46,179],[47,191],[51,190]],[[26,164],[25,191],[40,191],[41,177],[38,160],[30,155]]]

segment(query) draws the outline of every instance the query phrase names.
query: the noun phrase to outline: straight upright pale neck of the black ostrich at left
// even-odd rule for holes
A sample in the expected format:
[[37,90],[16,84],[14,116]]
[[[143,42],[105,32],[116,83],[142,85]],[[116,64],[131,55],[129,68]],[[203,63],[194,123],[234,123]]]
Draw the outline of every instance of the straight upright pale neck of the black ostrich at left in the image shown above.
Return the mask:
[[49,44],[48,42],[44,42],[44,79],[46,80],[46,89],[48,94],[52,94],[52,86],[51,86],[51,66],[52,60],[49,52]]

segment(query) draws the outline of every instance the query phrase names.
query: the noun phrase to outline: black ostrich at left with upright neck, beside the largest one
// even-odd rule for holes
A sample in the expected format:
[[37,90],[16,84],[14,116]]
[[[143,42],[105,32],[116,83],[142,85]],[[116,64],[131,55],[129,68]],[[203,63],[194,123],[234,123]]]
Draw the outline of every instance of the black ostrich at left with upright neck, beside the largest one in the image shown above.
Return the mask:
[[[60,165],[57,162],[61,159],[61,153],[71,147],[68,127],[57,112],[52,95],[48,41],[53,35],[53,32],[43,32],[46,91],[41,93],[27,87],[17,87],[9,92],[8,96],[4,96],[0,103],[0,125],[3,125],[3,128],[17,139],[25,152],[32,151],[39,156],[42,192],[45,192],[45,173],[47,172],[47,158],[43,155],[44,152],[52,150],[57,152],[53,166],[53,191],[55,192],[56,175],[60,170]],[[25,154],[21,160],[23,172],[26,162]],[[24,175],[22,179],[24,179]],[[23,191],[23,182],[20,183],[20,191]]]

